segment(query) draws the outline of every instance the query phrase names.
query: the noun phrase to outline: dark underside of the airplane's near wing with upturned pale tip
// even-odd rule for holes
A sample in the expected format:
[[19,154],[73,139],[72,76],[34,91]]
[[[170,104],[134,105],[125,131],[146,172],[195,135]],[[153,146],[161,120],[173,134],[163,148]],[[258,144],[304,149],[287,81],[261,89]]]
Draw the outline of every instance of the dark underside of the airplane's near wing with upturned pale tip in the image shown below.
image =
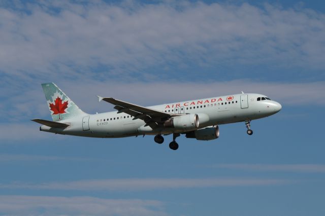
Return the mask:
[[174,116],[180,116],[181,114],[165,113],[153,109],[149,109],[144,106],[139,106],[133,103],[128,103],[122,100],[117,100],[112,97],[98,96],[99,101],[104,100],[106,102],[114,104],[114,109],[118,110],[117,113],[126,113],[133,116],[133,120],[141,119],[146,125],[152,129],[156,128],[159,124],[163,124],[166,120]]

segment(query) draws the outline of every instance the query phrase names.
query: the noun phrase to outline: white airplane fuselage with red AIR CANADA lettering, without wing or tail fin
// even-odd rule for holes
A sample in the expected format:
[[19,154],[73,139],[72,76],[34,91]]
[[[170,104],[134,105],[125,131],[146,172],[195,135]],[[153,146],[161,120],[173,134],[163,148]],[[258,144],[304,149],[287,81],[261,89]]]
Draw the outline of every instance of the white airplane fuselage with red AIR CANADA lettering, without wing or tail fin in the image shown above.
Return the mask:
[[[235,94],[197,100],[149,106],[148,108],[172,114],[197,114],[199,128],[213,125],[243,122],[271,116],[281,110],[281,105],[273,100],[259,100],[267,98],[261,94]],[[144,126],[140,119],[133,120],[125,113],[107,112],[94,115],[78,116],[60,121],[70,124],[67,128],[50,128],[41,126],[40,130],[88,137],[127,137],[142,134],[171,134],[184,133],[193,129],[176,130],[175,128],[158,127],[151,129]],[[198,129],[199,129],[198,128]]]

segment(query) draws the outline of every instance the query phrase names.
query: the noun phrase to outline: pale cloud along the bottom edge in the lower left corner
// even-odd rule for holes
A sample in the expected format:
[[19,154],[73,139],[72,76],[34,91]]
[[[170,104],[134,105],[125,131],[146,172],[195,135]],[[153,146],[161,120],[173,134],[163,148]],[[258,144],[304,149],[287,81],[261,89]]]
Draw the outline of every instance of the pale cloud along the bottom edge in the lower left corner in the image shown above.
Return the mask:
[[164,203],[95,197],[0,196],[2,215],[167,215]]

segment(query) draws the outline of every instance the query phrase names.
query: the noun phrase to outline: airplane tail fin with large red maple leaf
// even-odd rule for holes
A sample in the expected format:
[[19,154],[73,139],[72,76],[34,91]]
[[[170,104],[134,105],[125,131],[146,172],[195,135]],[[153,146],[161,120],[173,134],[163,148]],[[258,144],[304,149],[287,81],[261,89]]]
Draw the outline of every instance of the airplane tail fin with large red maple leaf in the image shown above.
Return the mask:
[[54,122],[75,116],[86,115],[80,108],[61,91],[54,83],[42,84],[47,105]]

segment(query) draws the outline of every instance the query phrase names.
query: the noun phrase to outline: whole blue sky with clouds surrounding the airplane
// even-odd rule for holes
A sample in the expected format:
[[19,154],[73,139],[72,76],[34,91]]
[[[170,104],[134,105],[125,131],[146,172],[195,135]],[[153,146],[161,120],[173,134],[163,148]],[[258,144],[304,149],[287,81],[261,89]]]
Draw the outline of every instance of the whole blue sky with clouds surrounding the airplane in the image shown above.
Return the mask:
[[[1,1],[0,215],[324,215],[319,1]],[[41,83],[87,113],[255,92],[275,116],[212,141],[39,131]]]

